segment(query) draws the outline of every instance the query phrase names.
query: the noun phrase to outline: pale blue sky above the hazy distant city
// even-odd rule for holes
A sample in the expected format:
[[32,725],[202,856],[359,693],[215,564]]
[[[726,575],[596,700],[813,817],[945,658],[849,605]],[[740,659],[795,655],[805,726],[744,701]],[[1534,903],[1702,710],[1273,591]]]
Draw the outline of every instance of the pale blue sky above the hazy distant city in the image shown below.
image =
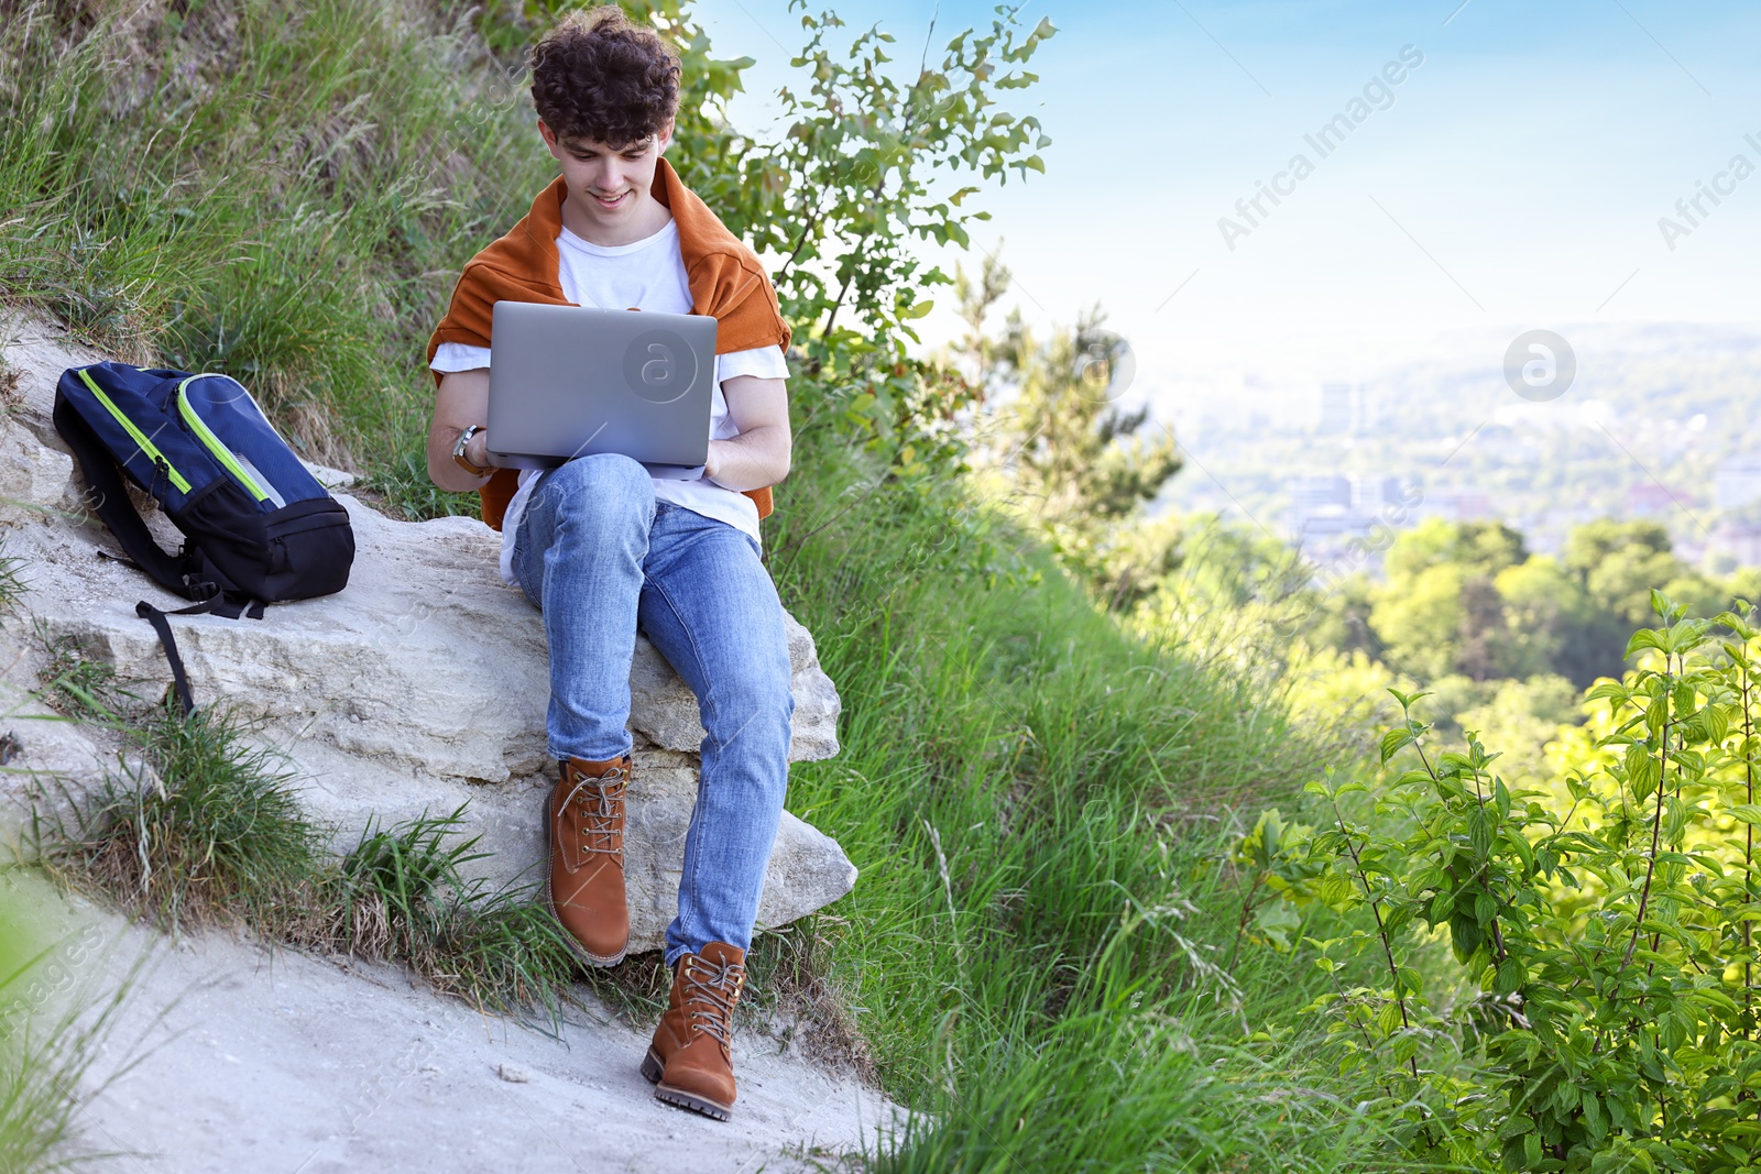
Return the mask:
[[[1030,0],[1021,19],[1060,32],[1013,109],[1053,137],[1048,174],[988,194],[979,229],[1007,238],[1014,301],[1048,320],[1101,301],[1159,398],[1231,371],[1361,378],[1534,326],[1761,326],[1761,174],[1703,204],[1673,252],[1657,227],[1733,155],[1761,165],[1761,9],[1469,0],[1451,18],[1456,4]],[[882,23],[910,62],[935,11],[835,7]],[[785,0],[696,11],[718,53],[757,58],[736,118],[766,118],[798,18]],[[944,4],[937,46],[990,19]],[[1321,158],[1303,136],[1404,46],[1423,65]],[[1314,174],[1231,252],[1219,218],[1298,151]]]

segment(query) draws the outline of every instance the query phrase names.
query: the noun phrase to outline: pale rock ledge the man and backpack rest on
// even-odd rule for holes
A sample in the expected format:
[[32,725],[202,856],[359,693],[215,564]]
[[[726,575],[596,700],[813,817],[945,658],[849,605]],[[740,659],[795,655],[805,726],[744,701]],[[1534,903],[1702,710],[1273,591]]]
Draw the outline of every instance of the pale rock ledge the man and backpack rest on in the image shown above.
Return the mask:
[[[25,319],[0,320],[0,357],[18,373],[14,403],[0,415],[0,523],[5,551],[23,560],[26,623],[49,641],[72,639],[88,657],[157,695],[169,681],[150,625],[136,600],[178,607],[132,567],[107,558],[111,535],[81,510],[72,459],[49,424],[55,382],[67,366],[102,356],[67,347]],[[190,616],[174,620],[178,646],[199,704],[224,702],[261,722],[269,745],[299,774],[313,815],[336,827],[345,847],[370,818],[396,822],[444,813],[468,801],[472,833],[491,857],[481,875],[495,884],[541,877],[548,660],[539,613],[497,574],[500,537],[477,519],[426,523],[389,519],[347,493],[356,535],[349,588],[338,595],[278,604],[264,620]],[[178,535],[150,517],[162,542]],[[791,759],[838,750],[838,695],[819,669],[814,639],[792,618],[789,653],[796,697]],[[16,671],[14,692],[30,685],[33,644],[14,635],[0,651]],[[627,868],[630,947],[657,949],[674,914],[685,825],[696,797],[697,702],[666,660],[637,639],[630,671],[636,781],[630,790]],[[26,704],[28,695],[19,704]],[[28,704],[26,704],[28,708]],[[63,723],[65,725],[65,723]],[[26,737],[14,771],[86,776],[102,752]],[[86,759],[99,759],[99,766]],[[81,766],[85,764],[85,766]],[[14,774],[16,778],[16,774]],[[849,892],[856,869],[835,841],[784,815],[759,921],[778,926]]]

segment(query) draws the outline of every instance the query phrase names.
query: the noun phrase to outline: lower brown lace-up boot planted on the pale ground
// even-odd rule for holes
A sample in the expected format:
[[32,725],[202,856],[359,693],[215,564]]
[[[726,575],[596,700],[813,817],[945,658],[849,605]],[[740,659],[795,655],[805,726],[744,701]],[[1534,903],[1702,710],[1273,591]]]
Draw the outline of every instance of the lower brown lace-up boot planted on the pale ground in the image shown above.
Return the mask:
[[673,968],[673,991],[643,1056],[643,1075],[655,1097],[726,1121],[734,1111],[734,1003],[747,984],[747,952],[710,942],[703,954],[685,954]]

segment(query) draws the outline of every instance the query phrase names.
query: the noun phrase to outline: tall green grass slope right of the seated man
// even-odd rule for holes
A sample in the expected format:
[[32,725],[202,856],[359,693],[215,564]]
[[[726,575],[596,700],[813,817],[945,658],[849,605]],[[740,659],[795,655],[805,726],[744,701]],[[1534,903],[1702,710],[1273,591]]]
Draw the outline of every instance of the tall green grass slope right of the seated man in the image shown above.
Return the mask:
[[789,806],[861,869],[826,980],[933,1111],[877,1169],[1411,1169],[1294,1014],[1326,977],[1224,972],[1236,811],[1291,803],[1331,732],[1254,664],[1131,639],[953,488],[851,491],[877,479],[835,428],[798,445],[766,540],[844,753]]

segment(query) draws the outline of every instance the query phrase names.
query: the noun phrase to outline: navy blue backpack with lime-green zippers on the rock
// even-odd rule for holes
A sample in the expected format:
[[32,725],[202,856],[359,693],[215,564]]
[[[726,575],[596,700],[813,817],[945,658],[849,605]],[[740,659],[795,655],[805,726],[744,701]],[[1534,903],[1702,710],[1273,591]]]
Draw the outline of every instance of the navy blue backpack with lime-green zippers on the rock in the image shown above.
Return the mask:
[[[55,429],[79,459],[90,503],[123,553],[192,607],[141,602],[190,708],[166,614],[262,616],[264,604],[343,590],[354,563],[349,512],[324,491],[227,375],[93,363],[62,373]],[[118,475],[120,473],[120,475]],[[122,477],[150,493],[185,535],[167,554]]]

